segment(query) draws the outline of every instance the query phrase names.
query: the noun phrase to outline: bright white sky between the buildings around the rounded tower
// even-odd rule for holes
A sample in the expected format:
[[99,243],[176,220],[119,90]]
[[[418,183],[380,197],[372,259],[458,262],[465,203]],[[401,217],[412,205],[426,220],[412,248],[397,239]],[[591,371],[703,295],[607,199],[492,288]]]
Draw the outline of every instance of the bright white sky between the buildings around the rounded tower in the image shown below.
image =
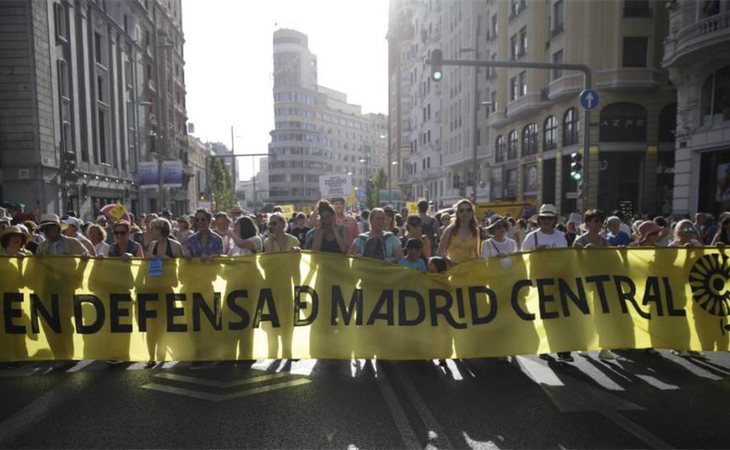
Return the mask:
[[[388,0],[183,0],[188,122],[203,142],[266,153],[274,128],[273,33],[309,37],[318,83],[387,114]],[[253,175],[241,158],[239,179]],[[258,158],[256,170],[258,171]]]

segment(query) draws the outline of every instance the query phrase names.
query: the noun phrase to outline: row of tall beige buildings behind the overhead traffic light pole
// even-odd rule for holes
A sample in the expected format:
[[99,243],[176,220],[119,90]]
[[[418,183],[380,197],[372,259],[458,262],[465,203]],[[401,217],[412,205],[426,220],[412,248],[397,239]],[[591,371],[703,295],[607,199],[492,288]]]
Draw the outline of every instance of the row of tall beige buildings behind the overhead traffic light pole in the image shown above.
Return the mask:
[[[414,198],[449,204],[476,192],[479,202],[550,202],[564,213],[672,212],[676,91],[662,67],[664,2],[425,1],[412,23],[415,161],[401,181]],[[600,105],[589,152],[580,72],[445,66],[436,87],[423,64],[435,48],[445,59],[590,67]],[[582,185],[570,177],[573,153],[587,163]]]

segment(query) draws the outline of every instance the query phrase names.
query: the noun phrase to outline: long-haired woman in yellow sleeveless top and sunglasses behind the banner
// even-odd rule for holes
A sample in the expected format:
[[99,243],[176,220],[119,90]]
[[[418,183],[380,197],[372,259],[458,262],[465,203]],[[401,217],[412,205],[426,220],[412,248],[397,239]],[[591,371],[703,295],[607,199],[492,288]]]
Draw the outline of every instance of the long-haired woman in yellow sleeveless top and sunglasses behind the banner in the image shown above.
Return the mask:
[[474,205],[469,200],[462,199],[454,209],[456,220],[444,230],[437,251],[452,265],[479,258],[480,250],[480,232],[474,218]]

